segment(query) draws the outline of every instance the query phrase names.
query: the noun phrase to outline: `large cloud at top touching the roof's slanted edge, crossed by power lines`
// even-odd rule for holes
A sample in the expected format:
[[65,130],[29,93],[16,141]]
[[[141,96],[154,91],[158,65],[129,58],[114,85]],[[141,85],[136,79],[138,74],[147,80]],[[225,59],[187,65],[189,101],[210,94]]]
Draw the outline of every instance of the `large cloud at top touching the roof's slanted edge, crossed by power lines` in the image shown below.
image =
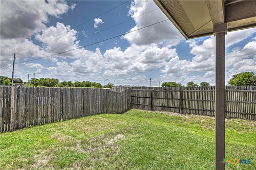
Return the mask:
[[[135,0],[132,2],[129,13],[134,19],[136,25],[131,29],[131,31],[167,19],[161,10],[156,10],[136,18],[137,16],[156,8],[158,7],[153,1]],[[178,45],[179,42],[184,39],[171,21],[165,21],[143,30],[129,33],[125,35],[124,38],[131,44],[149,45],[151,43],[156,43],[169,47]]]

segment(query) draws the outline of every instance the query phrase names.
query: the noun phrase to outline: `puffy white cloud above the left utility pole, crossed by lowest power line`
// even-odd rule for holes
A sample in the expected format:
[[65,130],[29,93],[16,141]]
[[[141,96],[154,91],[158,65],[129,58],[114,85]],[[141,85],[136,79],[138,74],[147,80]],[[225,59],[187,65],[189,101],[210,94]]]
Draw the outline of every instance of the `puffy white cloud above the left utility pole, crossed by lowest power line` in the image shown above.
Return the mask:
[[[44,29],[41,34],[36,35],[36,39],[43,43],[42,47],[33,44],[28,39],[1,39],[1,67],[7,66],[12,61],[11,54],[14,52],[17,62],[19,62],[22,59],[45,57],[78,48],[79,41],[76,41],[76,33],[77,31],[70,29],[69,25],[65,26],[63,23],[57,22],[56,27],[49,27]],[[56,57],[78,58],[83,55],[84,50],[81,48],[45,59],[57,62]]]

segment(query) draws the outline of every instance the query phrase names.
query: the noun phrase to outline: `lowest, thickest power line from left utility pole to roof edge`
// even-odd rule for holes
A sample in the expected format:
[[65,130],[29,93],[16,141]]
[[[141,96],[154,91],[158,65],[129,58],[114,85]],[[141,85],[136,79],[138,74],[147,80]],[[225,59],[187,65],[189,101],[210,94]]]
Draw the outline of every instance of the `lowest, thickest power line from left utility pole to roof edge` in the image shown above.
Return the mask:
[[[87,45],[85,45],[85,46],[81,46],[81,47],[77,47],[77,48],[74,48],[74,49],[70,49],[70,50],[67,50],[67,51],[65,51],[65,52],[60,52],[60,53],[52,54],[52,55],[45,56],[45,57],[35,58],[35,59],[32,59],[32,60],[28,60],[28,61],[18,62],[17,64],[20,64],[20,63],[27,63],[27,62],[36,61],[36,60],[41,60],[41,59],[43,59],[43,58],[52,57],[52,56],[59,55],[59,54],[63,54],[63,53],[68,53],[68,52],[71,52],[71,51],[76,50],[76,49],[88,47],[88,46],[91,46],[91,45],[94,45],[94,44],[101,43],[101,42],[103,42],[103,41],[107,41],[107,40],[110,40],[110,39],[113,39],[113,38],[121,37],[121,36],[126,35],[127,33],[139,31],[139,30],[141,30],[141,29],[145,29],[145,28],[147,28],[147,27],[150,27],[150,26],[153,26],[153,25],[156,25],[156,24],[158,24],[158,23],[162,23],[162,22],[165,22],[165,21],[168,21],[168,20],[169,20],[169,19],[162,20],[162,21],[159,21],[159,22],[156,22],[156,23],[153,23],[153,24],[149,24],[149,25],[147,25],[147,26],[145,26],[145,27],[141,27],[141,28],[136,29],[136,30],[132,30],[132,31],[129,31],[129,32],[125,32],[125,33],[122,33],[121,35],[118,35],[118,36],[114,36],[114,37],[110,37],[110,38],[107,38],[107,39],[103,39],[103,40],[97,41],[97,42],[95,42],[95,43],[87,44]],[[3,70],[2,70],[2,71],[3,71]]]

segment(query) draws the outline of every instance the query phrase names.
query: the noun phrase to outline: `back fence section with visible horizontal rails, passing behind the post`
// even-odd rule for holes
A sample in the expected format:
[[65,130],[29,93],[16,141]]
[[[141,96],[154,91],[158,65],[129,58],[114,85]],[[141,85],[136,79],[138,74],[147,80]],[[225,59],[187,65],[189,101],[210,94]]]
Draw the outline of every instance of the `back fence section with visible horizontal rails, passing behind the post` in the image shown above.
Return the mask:
[[[215,116],[215,87],[131,87],[131,107]],[[256,120],[255,86],[226,86],[226,117]]]

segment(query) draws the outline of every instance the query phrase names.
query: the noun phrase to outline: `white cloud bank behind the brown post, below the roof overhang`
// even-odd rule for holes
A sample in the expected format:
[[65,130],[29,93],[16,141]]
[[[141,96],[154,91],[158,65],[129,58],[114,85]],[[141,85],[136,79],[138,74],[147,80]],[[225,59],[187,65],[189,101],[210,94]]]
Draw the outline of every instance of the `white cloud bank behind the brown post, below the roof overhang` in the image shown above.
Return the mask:
[[[249,37],[250,35],[247,36]],[[164,65],[162,72],[165,75],[163,78],[180,78],[179,82],[184,82],[182,78],[187,77],[185,80],[188,81],[188,77],[190,77],[197,83],[199,83],[198,81],[207,80],[214,84],[215,38],[210,37],[200,45],[198,45],[198,41],[194,40],[189,43],[191,47],[190,53],[194,55],[192,60],[180,60],[178,56],[171,58]],[[256,71],[256,41],[253,39],[243,48],[236,47],[226,54],[226,80],[229,80],[232,74],[246,71]],[[204,75],[198,78],[189,76],[189,74],[197,72],[204,72]]]

